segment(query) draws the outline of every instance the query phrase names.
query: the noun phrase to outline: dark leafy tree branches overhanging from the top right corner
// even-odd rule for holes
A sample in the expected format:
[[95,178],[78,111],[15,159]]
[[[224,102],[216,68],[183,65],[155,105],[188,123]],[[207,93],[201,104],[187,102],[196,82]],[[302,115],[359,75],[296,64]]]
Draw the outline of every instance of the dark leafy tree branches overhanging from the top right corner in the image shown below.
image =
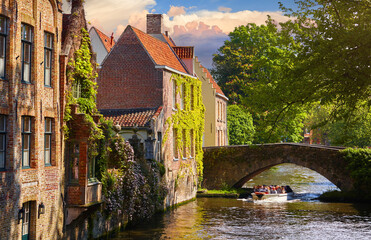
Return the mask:
[[370,0],[302,0],[283,31],[302,45],[293,72],[314,101],[333,104],[333,119],[371,105]]

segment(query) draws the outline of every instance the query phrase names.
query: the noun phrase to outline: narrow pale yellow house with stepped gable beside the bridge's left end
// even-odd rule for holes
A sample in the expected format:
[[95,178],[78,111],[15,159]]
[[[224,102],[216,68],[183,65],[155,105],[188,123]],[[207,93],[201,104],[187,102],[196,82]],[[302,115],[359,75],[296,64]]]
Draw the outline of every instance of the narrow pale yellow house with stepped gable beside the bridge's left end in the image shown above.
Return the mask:
[[224,95],[210,72],[194,59],[194,69],[202,82],[202,101],[205,105],[204,147],[228,145],[227,104]]

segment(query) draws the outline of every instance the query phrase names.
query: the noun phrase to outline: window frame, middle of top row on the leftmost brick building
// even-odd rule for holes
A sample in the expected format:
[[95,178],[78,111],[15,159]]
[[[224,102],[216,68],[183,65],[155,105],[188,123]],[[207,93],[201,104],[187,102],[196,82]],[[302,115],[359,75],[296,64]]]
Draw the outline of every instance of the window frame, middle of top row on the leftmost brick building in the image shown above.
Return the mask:
[[[30,31],[29,33],[30,33],[30,40],[28,40],[28,39],[25,39],[24,38],[24,29],[26,29],[27,27],[29,27],[29,29],[28,30],[26,30],[26,32],[27,31]],[[26,23],[22,23],[21,24],[21,45],[22,45],[22,47],[21,47],[21,63],[22,63],[22,74],[21,74],[21,77],[22,77],[22,83],[28,83],[28,84],[30,84],[30,83],[32,83],[32,50],[33,50],[33,35],[34,35],[34,31],[33,31],[33,27],[31,26],[31,25],[29,25],[29,24],[26,24]],[[25,80],[25,70],[24,70],[24,67],[25,67],[25,63],[26,63],[26,61],[25,61],[25,59],[24,59],[24,57],[25,57],[25,46],[26,45],[28,45],[29,46],[29,62],[28,62],[28,64],[29,64],[29,79],[28,80]]]

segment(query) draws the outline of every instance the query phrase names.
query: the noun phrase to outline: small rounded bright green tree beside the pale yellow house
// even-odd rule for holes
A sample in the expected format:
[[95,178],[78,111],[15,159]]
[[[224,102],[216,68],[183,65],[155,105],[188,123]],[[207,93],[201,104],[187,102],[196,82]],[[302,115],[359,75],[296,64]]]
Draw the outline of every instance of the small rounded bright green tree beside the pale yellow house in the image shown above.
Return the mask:
[[251,114],[238,105],[229,105],[227,114],[229,144],[251,144],[255,134]]

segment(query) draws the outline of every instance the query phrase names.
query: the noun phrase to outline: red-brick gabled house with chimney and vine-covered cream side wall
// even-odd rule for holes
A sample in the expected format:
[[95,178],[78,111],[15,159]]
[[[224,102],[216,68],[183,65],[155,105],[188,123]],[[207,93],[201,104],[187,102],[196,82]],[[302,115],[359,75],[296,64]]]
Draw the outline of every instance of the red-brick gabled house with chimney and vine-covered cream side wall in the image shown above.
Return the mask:
[[[187,66],[177,55],[162,20],[161,14],[148,14],[147,33],[132,26],[125,29],[102,63],[97,105],[105,118],[122,127],[120,134],[146,146],[147,159],[165,165],[169,190],[165,205],[171,206],[195,197],[196,159],[202,151],[196,148],[202,141],[199,126],[180,127],[174,116],[182,121],[198,116],[201,109],[203,117],[203,105],[192,61]],[[193,48],[184,49],[193,54]]]

